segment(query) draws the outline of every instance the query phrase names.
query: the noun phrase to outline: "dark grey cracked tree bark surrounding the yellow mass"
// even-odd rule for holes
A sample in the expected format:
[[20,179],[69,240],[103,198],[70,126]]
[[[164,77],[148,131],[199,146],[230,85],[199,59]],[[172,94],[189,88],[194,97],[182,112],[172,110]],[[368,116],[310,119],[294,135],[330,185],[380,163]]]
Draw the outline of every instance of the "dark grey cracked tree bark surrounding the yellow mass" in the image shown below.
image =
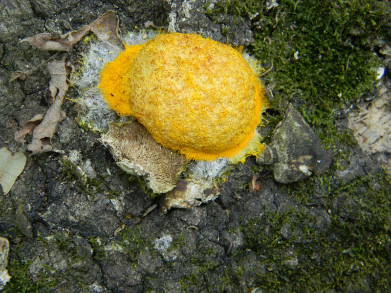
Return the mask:
[[[128,5],[124,0],[1,1],[0,147],[26,152],[26,144],[14,140],[15,131],[50,106],[49,74],[41,63],[51,54],[20,39],[43,31],[60,35],[114,10],[123,32],[135,26],[142,28],[146,21],[156,26],[170,22],[179,30],[202,29],[206,36],[225,41],[221,23],[214,24],[196,11],[203,9],[205,1],[188,1],[191,9],[180,2],[140,0]],[[250,20],[238,26],[232,16],[224,16],[221,21],[227,21],[230,34],[238,37],[235,44],[251,41]],[[83,44],[76,45],[70,61],[76,63],[83,49]],[[37,69],[32,74],[9,82],[13,72],[34,67]],[[389,92],[390,82],[385,82],[385,87]],[[71,88],[66,96],[77,98],[77,92]],[[259,168],[255,158],[247,159],[246,164],[238,165],[227,176],[215,202],[174,209],[166,215],[153,209],[143,216],[152,205],[161,205],[160,198],[151,197],[137,180],[116,166],[98,134],[78,126],[77,112],[70,100],[64,102],[62,109],[66,118],[59,123],[52,144],[64,153],[28,157],[10,194],[5,196],[0,191],[0,236],[10,241],[10,262],[30,263],[28,273],[32,279],[41,283],[54,281],[50,287],[53,292],[207,292],[205,287],[223,286],[221,276],[226,272],[238,270],[239,260],[233,255],[245,248],[239,227],[252,218],[296,208],[315,219],[311,225],[316,229],[329,229],[328,204],[318,196],[325,194],[327,187],[321,184],[313,187],[311,205],[305,205],[289,196],[282,184],[273,180],[271,171],[263,168],[258,179],[261,189],[248,192],[245,186],[252,180],[253,169]],[[336,125],[346,129],[346,117]],[[336,180],[349,183],[378,170],[382,164],[390,164],[387,152],[371,155],[358,145],[349,150],[352,155],[344,162],[345,170],[331,175]],[[354,204],[349,199],[337,198],[330,207],[345,217],[351,205]],[[304,231],[289,227],[281,230],[283,237],[296,238],[301,243]],[[155,249],[156,239],[166,241],[169,249]],[[240,258],[244,263],[240,288],[245,292],[251,289],[257,273],[268,268],[254,251],[245,251]],[[199,263],[204,265],[205,273],[199,273]],[[294,259],[292,264],[295,265]],[[181,282],[192,274],[203,278],[185,291]],[[225,290],[233,292],[229,287]]]

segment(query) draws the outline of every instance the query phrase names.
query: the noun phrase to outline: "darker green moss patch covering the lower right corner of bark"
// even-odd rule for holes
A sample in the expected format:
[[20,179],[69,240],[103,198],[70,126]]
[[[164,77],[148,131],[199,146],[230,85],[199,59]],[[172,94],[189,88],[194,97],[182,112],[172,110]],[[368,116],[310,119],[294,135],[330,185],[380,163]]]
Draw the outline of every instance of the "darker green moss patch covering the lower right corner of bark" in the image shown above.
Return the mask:
[[[299,190],[301,185],[296,187]],[[327,231],[317,229],[316,219],[297,210],[266,211],[243,221],[246,246],[233,257],[239,264],[245,251],[257,253],[266,272],[258,276],[255,287],[265,292],[390,291],[390,174],[383,170],[330,191],[330,201],[349,198],[352,202],[344,207],[349,210],[345,218],[329,209]],[[292,257],[285,253],[292,245],[298,258],[294,268],[285,263]],[[237,284],[234,276],[221,281]]]

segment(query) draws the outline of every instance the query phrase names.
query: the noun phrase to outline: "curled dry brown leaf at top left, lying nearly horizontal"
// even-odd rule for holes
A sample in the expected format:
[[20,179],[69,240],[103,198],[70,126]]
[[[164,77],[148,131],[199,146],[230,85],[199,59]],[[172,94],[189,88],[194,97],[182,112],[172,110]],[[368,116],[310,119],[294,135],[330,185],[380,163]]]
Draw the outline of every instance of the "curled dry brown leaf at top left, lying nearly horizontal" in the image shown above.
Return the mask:
[[96,21],[83,26],[77,31],[68,32],[59,37],[52,38],[50,33],[37,34],[25,38],[22,42],[29,42],[44,51],[65,51],[70,52],[73,45],[79,42],[89,31],[95,33],[98,38],[107,40],[113,44],[120,44],[118,36],[118,17],[113,11],[108,11]]

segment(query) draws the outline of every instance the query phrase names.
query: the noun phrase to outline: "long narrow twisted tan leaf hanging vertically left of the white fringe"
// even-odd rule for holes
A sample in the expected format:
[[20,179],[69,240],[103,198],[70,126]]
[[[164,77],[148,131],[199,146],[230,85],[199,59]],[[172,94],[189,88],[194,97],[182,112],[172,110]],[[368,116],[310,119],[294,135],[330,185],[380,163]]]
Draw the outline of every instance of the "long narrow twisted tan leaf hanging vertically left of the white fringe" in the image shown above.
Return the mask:
[[57,124],[62,118],[61,105],[68,89],[64,61],[52,61],[47,64],[47,69],[51,77],[49,89],[54,103],[47,110],[42,122],[33,131],[33,139],[27,146],[27,149],[32,151],[32,155],[53,150],[50,139],[56,132]]

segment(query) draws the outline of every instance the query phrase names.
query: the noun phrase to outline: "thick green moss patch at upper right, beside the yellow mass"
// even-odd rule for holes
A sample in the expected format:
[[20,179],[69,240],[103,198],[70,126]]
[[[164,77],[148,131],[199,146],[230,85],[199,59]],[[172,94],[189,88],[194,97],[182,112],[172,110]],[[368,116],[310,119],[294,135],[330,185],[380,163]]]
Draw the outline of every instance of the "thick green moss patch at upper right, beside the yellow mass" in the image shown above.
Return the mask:
[[292,102],[321,141],[333,146],[340,140],[334,126],[336,110],[373,87],[371,68],[379,60],[372,42],[391,40],[391,6],[379,0],[281,0],[266,11],[264,3],[218,1],[212,10],[210,3],[205,8],[216,20],[225,13],[253,16],[255,42],[249,49],[263,67],[273,63],[273,70],[262,78],[274,88],[272,116]]

